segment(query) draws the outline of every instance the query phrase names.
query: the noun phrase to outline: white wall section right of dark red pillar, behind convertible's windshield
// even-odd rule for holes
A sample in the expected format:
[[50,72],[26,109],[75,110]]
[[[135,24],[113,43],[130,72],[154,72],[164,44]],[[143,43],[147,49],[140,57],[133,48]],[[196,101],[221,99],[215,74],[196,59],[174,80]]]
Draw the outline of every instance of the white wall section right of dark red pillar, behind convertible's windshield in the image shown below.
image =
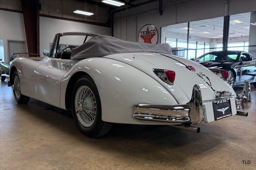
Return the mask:
[[[40,55],[42,51],[50,48],[56,33],[61,32],[90,32],[110,36],[110,28],[73,22],[67,20],[59,20],[40,16]],[[76,43],[72,43],[76,44]]]

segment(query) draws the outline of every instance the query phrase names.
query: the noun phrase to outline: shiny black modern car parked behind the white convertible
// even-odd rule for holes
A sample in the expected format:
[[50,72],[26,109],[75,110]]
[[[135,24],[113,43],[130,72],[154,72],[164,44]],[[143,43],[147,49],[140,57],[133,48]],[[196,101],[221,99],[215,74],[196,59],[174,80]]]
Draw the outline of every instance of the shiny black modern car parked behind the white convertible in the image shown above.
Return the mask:
[[246,80],[256,87],[256,57],[246,51],[212,51],[194,61],[220,75],[232,87]]

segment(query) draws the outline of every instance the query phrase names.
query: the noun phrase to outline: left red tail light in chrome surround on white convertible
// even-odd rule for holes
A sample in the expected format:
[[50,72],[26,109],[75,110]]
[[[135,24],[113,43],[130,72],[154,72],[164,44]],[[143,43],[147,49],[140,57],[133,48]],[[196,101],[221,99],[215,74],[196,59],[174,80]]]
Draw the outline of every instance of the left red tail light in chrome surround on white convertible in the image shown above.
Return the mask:
[[170,85],[174,83],[175,71],[163,70],[163,69],[153,69],[153,71],[165,83],[168,83]]

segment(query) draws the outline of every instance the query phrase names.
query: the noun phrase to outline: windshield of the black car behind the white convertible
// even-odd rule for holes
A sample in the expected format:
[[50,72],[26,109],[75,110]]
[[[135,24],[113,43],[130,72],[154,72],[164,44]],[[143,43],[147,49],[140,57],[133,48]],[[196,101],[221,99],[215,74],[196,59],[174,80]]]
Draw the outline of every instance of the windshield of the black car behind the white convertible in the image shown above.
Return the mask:
[[238,57],[238,52],[232,52],[232,51],[220,51],[220,52],[212,52],[204,54],[198,58],[196,58],[194,61],[228,61],[233,62],[236,61],[236,58]]

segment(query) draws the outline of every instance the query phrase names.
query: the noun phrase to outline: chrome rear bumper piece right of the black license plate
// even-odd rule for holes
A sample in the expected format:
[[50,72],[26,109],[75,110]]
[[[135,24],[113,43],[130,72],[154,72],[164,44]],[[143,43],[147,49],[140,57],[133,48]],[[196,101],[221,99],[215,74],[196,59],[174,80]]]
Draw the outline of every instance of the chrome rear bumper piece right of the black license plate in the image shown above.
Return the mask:
[[236,94],[236,110],[247,110],[252,105],[251,85],[244,81],[244,88],[240,94]]

